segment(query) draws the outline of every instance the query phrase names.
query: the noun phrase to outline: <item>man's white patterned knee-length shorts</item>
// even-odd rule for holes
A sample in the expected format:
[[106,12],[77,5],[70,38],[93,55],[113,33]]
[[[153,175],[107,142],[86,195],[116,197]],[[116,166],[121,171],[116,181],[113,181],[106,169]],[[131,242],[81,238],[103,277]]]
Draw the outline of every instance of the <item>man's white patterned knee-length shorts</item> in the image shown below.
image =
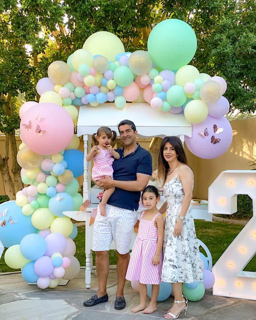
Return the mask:
[[116,251],[126,254],[130,251],[133,227],[137,220],[137,212],[106,204],[107,216],[101,216],[98,206],[93,227],[93,251],[109,251],[114,239]]

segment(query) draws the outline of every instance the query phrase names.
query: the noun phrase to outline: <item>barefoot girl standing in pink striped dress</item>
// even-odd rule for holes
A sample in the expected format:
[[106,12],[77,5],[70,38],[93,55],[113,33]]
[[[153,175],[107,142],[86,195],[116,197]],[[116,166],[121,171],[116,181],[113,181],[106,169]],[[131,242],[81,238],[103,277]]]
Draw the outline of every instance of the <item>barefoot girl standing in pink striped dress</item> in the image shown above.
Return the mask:
[[[164,218],[156,208],[160,200],[156,187],[147,186],[141,198],[147,210],[141,212],[138,236],[132,248],[125,278],[130,281],[139,281],[140,304],[131,311],[135,313],[143,310],[142,313],[152,313],[156,310],[156,299],[161,282]],[[146,305],[147,284],[152,284],[152,297],[148,307]]]

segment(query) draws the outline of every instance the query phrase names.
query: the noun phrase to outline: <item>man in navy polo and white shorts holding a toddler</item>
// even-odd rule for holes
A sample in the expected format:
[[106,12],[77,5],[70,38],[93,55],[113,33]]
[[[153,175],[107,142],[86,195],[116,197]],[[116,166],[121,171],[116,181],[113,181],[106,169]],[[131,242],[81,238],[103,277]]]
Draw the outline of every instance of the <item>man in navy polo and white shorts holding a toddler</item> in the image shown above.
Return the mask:
[[84,306],[91,307],[108,301],[108,251],[114,239],[117,251],[115,309],[120,310],[125,307],[125,275],[130,260],[131,236],[137,220],[140,191],[147,186],[152,174],[152,158],[150,153],[136,142],[138,132],[132,121],[121,121],[118,131],[124,147],[116,150],[120,159],[113,163],[114,179],[106,176],[101,180],[104,189],[115,187],[115,191],[106,205],[106,217],[100,215],[98,208],[93,228],[92,250],[96,254],[98,292],[84,301]]

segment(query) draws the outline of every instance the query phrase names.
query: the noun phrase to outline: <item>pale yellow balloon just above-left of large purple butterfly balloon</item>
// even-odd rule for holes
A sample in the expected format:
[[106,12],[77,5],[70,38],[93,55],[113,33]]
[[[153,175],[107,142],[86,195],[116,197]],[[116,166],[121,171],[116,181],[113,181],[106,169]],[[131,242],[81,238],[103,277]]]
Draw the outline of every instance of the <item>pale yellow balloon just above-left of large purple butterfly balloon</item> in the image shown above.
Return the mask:
[[184,116],[194,124],[203,122],[208,116],[208,106],[202,100],[189,101],[184,110]]

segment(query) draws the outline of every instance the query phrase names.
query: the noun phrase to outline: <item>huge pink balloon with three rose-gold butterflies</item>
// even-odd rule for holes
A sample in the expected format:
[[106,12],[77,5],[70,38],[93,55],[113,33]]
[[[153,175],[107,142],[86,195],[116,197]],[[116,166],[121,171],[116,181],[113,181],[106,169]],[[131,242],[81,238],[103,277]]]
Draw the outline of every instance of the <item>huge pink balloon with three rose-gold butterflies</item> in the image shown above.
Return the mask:
[[74,124],[64,108],[44,102],[30,108],[22,117],[20,134],[32,151],[52,155],[68,146],[74,135]]

